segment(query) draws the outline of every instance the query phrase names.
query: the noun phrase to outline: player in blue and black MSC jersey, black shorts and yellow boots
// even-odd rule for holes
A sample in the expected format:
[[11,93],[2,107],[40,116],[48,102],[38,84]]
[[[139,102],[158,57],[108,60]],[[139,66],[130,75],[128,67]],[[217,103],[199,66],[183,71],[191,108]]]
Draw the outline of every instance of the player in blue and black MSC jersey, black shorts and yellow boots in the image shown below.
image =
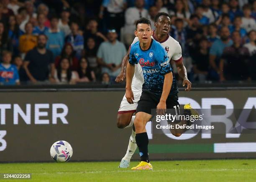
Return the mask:
[[141,18],[136,22],[135,35],[139,41],[131,47],[126,69],[125,96],[130,104],[133,103],[134,99],[131,89],[134,64],[141,65],[144,84],[134,120],[136,143],[141,162],[132,170],[152,170],[153,167],[148,159],[148,135],[145,126],[152,117],[151,109],[163,111],[166,108],[172,108],[170,107],[173,105],[172,95],[169,95],[172,92],[172,67],[164,48],[159,42],[151,38],[153,32],[149,20]]

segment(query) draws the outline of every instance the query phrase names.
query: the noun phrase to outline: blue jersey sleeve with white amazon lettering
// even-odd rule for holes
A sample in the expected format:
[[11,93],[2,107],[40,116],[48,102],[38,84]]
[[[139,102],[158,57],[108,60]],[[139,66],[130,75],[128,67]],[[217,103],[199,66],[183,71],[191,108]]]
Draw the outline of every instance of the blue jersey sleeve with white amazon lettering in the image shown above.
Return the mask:
[[166,75],[172,71],[168,55],[163,47],[160,46],[159,51],[156,53],[156,61],[159,64],[159,74]]

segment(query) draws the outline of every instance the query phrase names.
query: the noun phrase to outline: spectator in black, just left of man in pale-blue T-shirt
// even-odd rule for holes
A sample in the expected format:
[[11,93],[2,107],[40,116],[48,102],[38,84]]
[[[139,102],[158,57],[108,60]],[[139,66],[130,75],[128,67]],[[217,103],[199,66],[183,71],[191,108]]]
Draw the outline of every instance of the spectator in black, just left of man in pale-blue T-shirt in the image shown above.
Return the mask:
[[85,56],[87,57],[90,68],[95,73],[97,80],[100,80],[101,70],[97,62],[97,47],[95,47],[95,40],[92,37],[88,38],[87,40],[85,52]]

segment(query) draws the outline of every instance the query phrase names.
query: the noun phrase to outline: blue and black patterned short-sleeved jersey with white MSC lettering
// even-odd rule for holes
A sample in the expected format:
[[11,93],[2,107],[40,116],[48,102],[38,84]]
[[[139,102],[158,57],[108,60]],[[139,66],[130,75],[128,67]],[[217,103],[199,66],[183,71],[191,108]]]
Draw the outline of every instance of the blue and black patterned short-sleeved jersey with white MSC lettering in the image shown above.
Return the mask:
[[142,50],[139,42],[131,46],[129,62],[140,64],[143,71],[143,91],[161,95],[164,85],[164,75],[172,71],[169,58],[159,42],[151,39],[148,50]]

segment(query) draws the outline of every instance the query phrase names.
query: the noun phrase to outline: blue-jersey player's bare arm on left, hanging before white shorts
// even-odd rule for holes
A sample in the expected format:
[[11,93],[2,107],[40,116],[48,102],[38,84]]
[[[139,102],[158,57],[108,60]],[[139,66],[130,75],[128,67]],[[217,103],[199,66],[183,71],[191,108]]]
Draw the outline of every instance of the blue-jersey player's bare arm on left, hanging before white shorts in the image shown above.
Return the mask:
[[134,75],[134,65],[132,65],[131,63],[127,64],[127,68],[126,68],[126,87],[125,87],[125,97],[127,99],[127,101],[130,104],[133,104],[133,91],[131,90],[131,84],[132,84],[132,79],[133,79],[133,75]]

